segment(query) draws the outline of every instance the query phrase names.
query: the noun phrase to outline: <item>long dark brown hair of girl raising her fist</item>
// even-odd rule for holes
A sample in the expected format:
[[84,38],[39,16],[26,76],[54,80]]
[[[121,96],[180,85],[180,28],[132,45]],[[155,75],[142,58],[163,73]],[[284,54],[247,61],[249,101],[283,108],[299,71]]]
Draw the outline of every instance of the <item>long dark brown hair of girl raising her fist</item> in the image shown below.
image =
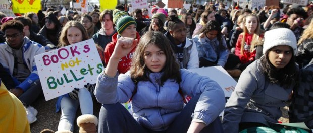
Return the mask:
[[150,71],[144,61],[144,50],[150,45],[159,47],[166,56],[165,66],[161,70],[163,72],[161,85],[168,79],[174,79],[176,82],[180,82],[179,64],[175,60],[170,42],[161,32],[157,31],[148,31],[140,38],[130,67],[131,77],[134,82],[149,80],[148,74]]

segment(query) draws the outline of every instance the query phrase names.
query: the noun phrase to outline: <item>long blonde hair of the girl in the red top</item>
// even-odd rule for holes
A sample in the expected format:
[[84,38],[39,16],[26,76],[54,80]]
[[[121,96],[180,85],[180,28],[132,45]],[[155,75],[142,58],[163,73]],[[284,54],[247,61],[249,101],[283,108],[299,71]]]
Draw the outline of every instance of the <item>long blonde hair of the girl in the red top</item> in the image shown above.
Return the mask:
[[[261,28],[260,28],[260,21],[258,19],[258,16],[256,14],[249,14],[245,17],[245,19],[247,17],[255,17],[256,20],[257,20],[257,27],[253,33],[253,37],[252,37],[252,41],[251,41],[251,47],[250,47],[250,52],[253,52],[254,51],[254,46],[255,46],[255,41],[261,39],[260,38],[260,35],[262,33],[261,31]],[[241,40],[241,48],[240,48],[240,54],[243,55],[243,47],[244,47],[244,43],[245,43],[245,36],[246,36],[246,33],[248,32],[248,29],[247,27],[245,26],[244,29],[243,29],[243,32],[241,34],[243,34],[243,37],[242,37],[242,40]]]

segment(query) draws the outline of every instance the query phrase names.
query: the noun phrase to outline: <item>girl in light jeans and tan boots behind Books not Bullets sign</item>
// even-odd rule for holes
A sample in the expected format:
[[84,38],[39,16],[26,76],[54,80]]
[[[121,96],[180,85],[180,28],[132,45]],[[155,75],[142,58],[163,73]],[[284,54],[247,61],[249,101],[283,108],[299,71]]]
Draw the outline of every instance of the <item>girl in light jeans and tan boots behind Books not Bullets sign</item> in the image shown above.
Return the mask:
[[[62,29],[59,47],[75,44],[88,39],[84,26],[77,21],[69,21]],[[82,115],[77,118],[80,131],[96,131],[98,119],[93,115],[93,103],[91,95],[94,85],[87,84],[83,88],[74,90],[68,94],[60,96],[57,101],[57,112],[61,110],[58,131],[74,129],[74,120],[78,107]],[[86,127],[89,126],[89,127]]]

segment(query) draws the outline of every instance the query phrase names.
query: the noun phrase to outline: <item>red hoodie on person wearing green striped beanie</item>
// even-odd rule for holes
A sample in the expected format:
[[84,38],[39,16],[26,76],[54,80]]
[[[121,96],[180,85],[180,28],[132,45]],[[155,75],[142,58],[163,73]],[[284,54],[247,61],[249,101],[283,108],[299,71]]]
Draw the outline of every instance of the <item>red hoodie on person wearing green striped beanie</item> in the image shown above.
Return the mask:
[[[139,33],[137,32],[137,38],[138,41],[140,40],[140,35]],[[112,36],[112,42],[108,43],[108,45],[106,46],[105,48],[105,62],[106,64],[108,64],[109,62],[109,59],[114,51],[114,48],[115,48],[115,45],[116,45],[116,42],[117,42],[117,35],[118,33],[115,33],[113,36]],[[118,71],[119,71],[119,74],[124,74],[126,73],[129,68],[130,68],[130,65],[131,65],[131,60],[133,58],[133,55],[135,53],[135,49],[136,47],[134,47],[134,49],[132,49],[126,56],[122,57],[119,64],[118,64]]]

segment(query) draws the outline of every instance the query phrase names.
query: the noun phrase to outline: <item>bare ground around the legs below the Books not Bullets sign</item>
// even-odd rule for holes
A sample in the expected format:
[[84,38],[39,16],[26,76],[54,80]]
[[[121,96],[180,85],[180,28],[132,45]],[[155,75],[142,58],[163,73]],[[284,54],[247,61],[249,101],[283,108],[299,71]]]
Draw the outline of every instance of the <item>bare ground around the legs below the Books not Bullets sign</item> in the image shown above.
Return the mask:
[[[55,103],[57,98],[45,101],[44,97],[38,99],[33,104],[33,107],[38,110],[37,121],[30,125],[30,131],[33,133],[39,133],[43,129],[51,129],[57,131],[61,112],[56,113]],[[101,105],[94,101],[93,112],[95,116],[99,116]],[[80,116],[81,112],[78,109],[76,117]],[[74,132],[78,132],[79,128],[75,122]]]

